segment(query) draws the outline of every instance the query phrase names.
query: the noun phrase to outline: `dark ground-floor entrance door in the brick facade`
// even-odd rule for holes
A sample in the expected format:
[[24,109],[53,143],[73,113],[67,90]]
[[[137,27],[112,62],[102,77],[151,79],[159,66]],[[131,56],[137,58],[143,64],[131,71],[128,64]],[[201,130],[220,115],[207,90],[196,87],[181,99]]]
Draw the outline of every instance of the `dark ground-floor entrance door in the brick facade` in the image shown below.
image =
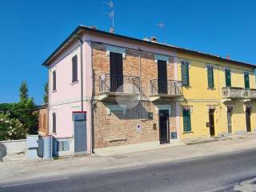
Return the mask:
[[159,140],[160,144],[170,142],[169,110],[159,110]]

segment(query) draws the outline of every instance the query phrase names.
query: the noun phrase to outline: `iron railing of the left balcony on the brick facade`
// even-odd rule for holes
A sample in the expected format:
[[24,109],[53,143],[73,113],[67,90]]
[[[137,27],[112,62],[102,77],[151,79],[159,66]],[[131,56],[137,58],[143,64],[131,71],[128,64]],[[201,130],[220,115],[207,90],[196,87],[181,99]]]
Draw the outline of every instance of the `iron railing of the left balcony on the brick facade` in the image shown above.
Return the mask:
[[100,77],[100,92],[122,92],[139,94],[140,79],[133,76],[102,74]]

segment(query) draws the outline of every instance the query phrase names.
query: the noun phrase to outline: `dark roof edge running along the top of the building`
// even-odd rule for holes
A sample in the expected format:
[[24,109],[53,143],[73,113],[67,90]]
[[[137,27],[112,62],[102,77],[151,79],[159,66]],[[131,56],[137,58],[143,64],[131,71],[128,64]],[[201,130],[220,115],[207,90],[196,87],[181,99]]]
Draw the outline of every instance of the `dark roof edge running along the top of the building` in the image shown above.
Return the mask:
[[154,46],[159,46],[162,48],[166,48],[166,49],[171,49],[171,50],[178,50],[181,52],[185,52],[185,53],[189,53],[189,54],[198,54],[201,55],[203,57],[206,58],[212,58],[212,59],[216,59],[218,61],[222,61],[222,62],[232,62],[238,65],[242,65],[242,66],[250,66],[253,68],[256,68],[256,66],[254,64],[248,63],[248,62],[240,62],[240,61],[235,61],[235,60],[231,60],[231,59],[227,59],[227,58],[222,58],[219,57],[217,55],[214,54],[207,54],[207,53],[203,53],[201,51],[198,50],[190,50],[190,49],[186,49],[186,48],[182,48],[182,47],[178,47],[178,46],[172,46],[172,45],[166,45],[166,44],[162,44],[159,42],[149,42],[149,41],[145,41],[139,38],[130,38],[121,34],[112,34],[103,30],[96,30],[94,28],[90,28],[88,26],[78,26],[69,36],[68,38],[66,38],[66,40],[64,42],[62,42],[62,44],[60,46],[58,46],[58,48],[56,50],[54,50],[54,52],[52,54],[50,54],[50,56],[48,58],[46,58],[46,61],[42,63],[42,66],[49,66],[50,61],[52,60],[52,58],[54,58],[58,52],[60,52],[65,46],[67,46],[70,41],[72,41],[72,39],[74,38],[75,35],[78,34],[82,34],[82,32],[85,31],[90,31],[96,34],[106,34],[110,37],[116,37],[116,38],[124,38],[124,39],[128,39],[130,41],[134,41],[134,42],[142,42],[142,43],[146,43],[148,45],[154,45]]

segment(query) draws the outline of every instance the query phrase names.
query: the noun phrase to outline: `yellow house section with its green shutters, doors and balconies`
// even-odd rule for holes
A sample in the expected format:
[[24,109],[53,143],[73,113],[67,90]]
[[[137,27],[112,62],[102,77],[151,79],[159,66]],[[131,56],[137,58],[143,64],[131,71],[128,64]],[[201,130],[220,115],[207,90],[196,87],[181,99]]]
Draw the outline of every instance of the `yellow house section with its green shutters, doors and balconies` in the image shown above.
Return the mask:
[[177,60],[182,139],[256,130],[254,65],[193,51],[178,52]]

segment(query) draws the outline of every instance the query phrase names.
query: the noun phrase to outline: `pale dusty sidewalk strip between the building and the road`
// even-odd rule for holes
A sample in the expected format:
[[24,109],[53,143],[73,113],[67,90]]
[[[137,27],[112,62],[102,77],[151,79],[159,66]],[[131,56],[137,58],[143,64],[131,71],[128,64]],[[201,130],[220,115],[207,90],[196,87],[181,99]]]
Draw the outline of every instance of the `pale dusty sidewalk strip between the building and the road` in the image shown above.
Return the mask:
[[214,154],[225,154],[248,150],[256,146],[256,135],[234,138],[218,142],[202,142],[189,146],[168,147],[132,154],[98,156],[96,154],[61,158],[54,161],[13,161],[0,162],[0,184],[18,182],[59,175],[86,172],[106,172],[130,166],[150,166],[161,162],[177,162],[190,158],[200,158]]

